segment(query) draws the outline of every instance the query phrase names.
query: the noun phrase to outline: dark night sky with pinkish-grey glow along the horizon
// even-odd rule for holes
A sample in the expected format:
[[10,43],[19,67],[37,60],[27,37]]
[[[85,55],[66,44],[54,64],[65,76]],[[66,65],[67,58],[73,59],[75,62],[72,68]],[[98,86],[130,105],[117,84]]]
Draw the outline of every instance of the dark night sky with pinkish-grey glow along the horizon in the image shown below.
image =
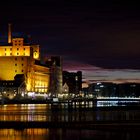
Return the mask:
[[[112,2],[113,1],[113,2]],[[64,70],[88,81],[140,81],[140,8],[115,0],[30,0],[0,5],[0,37],[12,23],[43,56],[60,55]]]

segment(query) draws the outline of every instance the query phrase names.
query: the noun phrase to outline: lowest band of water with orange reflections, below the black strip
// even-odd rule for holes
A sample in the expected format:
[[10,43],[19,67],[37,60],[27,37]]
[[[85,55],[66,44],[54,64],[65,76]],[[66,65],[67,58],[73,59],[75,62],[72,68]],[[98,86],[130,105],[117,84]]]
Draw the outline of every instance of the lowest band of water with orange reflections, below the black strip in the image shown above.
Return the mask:
[[88,129],[0,129],[2,140],[136,140],[139,132]]

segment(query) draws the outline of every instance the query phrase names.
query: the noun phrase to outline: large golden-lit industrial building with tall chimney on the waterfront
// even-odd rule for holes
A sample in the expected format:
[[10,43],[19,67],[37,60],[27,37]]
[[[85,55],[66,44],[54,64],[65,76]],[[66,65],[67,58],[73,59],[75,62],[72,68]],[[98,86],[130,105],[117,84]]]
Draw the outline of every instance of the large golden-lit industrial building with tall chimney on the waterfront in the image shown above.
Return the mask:
[[[23,75],[24,77],[24,80],[20,83],[21,85],[18,86],[19,94],[22,94],[21,87],[24,86],[24,93],[29,95],[51,92],[49,88],[52,83],[50,82],[51,66],[41,63],[39,45],[27,44],[24,42],[24,38],[21,37],[12,37],[11,25],[9,24],[8,43],[0,45],[0,92],[4,94],[6,91],[2,90],[2,87],[8,88],[9,83],[13,82],[14,84],[16,75]],[[61,67],[57,67],[56,70],[57,75],[58,72],[60,75],[59,81],[62,82]],[[3,83],[7,86],[2,86]]]

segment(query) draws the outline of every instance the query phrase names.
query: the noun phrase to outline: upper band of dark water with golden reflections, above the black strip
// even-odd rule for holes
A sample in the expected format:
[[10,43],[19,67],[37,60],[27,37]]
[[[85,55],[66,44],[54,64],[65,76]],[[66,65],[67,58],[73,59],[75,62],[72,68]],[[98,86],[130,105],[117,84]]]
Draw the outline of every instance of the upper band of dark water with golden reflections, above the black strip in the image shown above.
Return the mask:
[[109,120],[140,120],[140,111],[131,110],[58,110],[48,104],[29,104],[29,105],[4,105],[0,107],[0,121],[109,121]]

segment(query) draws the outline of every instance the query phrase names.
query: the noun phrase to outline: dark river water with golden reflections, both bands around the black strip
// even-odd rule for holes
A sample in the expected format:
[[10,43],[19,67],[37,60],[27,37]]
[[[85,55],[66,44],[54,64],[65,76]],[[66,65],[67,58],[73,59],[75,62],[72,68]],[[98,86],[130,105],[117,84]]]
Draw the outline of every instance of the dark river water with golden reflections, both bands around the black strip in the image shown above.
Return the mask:
[[[0,106],[0,121],[8,122],[92,122],[105,121],[109,129],[86,128],[2,128],[0,126],[0,140],[139,140],[140,129],[129,126],[115,129],[112,121],[131,122],[139,124],[139,108],[83,108],[68,110],[67,106],[59,109],[49,104],[11,104]],[[56,107],[56,108],[55,108]],[[119,126],[119,124],[117,124]]]

